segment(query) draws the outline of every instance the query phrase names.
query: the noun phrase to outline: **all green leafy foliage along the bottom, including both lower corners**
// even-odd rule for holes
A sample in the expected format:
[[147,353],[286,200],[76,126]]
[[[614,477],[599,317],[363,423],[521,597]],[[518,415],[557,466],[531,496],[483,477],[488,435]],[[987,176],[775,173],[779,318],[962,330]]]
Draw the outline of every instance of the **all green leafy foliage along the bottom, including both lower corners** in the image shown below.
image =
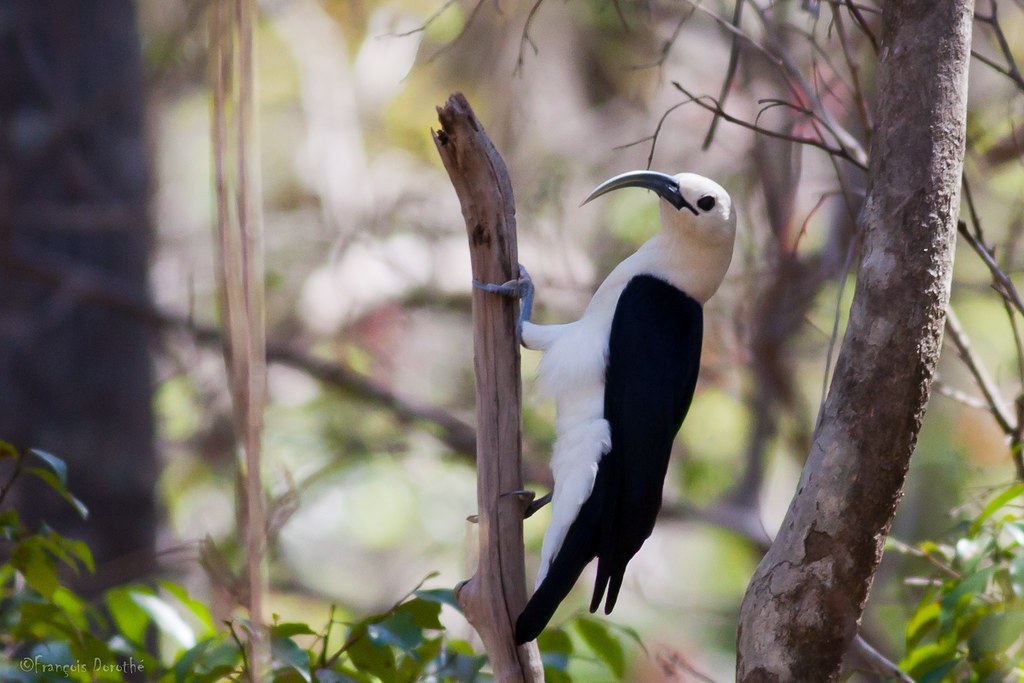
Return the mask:
[[[251,680],[246,643],[252,626],[234,617],[215,624],[210,610],[169,581],[125,585],[86,601],[66,577],[93,570],[79,541],[48,528],[31,530],[3,507],[22,474],[46,481],[86,515],[67,488],[56,457],[18,453],[0,441],[11,474],[0,487],[0,679],[5,681]],[[30,466],[41,461],[45,467]],[[933,567],[915,583],[926,590],[906,625],[900,667],[923,683],[989,683],[1024,675],[1024,483],[992,494],[973,518],[943,543],[891,548]],[[428,577],[427,579],[430,579]],[[426,581],[426,580],[425,580]],[[425,582],[424,582],[425,583]],[[269,627],[273,683],[400,683],[486,681],[486,657],[449,636],[442,608],[458,610],[449,589],[422,583],[389,609],[355,623],[335,618],[314,628],[294,622]],[[643,645],[631,630],[590,615],[542,634],[545,677],[617,681],[627,677],[627,645]]]

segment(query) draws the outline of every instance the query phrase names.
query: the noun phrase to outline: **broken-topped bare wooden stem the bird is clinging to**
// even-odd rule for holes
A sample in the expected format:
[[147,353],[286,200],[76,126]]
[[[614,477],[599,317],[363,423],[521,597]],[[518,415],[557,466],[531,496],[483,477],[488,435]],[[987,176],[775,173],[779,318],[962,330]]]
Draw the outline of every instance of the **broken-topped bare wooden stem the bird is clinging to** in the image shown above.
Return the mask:
[[[518,276],[515,202],[505,162],[461,93],[437,116],[434,143],[462,204],[473,278],[504,283]],[[516,302],[473,290],[476,370],[476,470],[480,557],[457,591],[483,641],[496,681],[543,681],[536,643],[516,647],[515,620],[526,605],[522,502],[522,384]]]

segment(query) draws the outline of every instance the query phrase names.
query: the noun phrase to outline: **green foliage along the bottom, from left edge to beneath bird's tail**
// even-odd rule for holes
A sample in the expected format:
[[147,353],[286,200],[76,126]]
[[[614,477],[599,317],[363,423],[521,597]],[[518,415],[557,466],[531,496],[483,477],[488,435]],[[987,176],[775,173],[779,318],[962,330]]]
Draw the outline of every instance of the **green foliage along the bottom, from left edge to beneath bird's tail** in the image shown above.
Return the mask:
[[[0,458],[12,464],[0,489],[0,505],[15,479],[30,473],[46,481],[82,514],[84,506],[67,489],[67,470],[56,457],[30,452],[48,469],[26,467],[26,456],[0,441]],[[50,528],[28,529],[11,508],[0,509],[0,680],[42,682],[138,680],[206,683],[250,680],[246,642],[252,626],[236,617],[217,625],[210,610],[180,586],[125,585],[87,602],[66,586],[61,569],[93,570],[88,547]],[[430,577],[428,577],[430,579]],[[399,683],[483,681],[486,657],[450,638],[440,621],[449,589],[422,584],[388,610],[353,624],[331,617],[322,628],[275,623],[269,628],[273,683]],[[613,677],[624,671],[621,645],[605,626],[581,620],[577,631],[590,646],[582,652],[603,661]],[[343,632],[343,633],[339,633]],[[552,680],[567,680],[573,652],[561,632],[554,643]],[[567,636],[565,636],[567,638]],[[557,675],[561,674],[561,678]]]

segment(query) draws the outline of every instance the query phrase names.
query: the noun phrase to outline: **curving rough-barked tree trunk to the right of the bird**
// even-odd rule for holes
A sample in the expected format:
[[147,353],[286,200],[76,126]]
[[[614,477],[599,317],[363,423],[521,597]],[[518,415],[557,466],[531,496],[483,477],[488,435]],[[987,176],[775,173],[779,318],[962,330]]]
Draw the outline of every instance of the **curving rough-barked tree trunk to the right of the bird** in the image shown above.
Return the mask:
[[942,341],[972,7],[885,4],[850,323],[797,495],[743,599],[739,681],[834,681],[856,635]]

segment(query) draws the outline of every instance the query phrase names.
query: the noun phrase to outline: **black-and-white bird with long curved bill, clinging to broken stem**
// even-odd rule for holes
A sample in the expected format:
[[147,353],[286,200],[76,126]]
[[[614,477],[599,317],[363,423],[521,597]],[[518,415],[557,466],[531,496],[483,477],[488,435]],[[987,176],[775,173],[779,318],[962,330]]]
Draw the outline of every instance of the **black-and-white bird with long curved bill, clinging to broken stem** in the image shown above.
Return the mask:
[[693,398],[703,304],[732,259],[736,213],[720,184],[695,173],[629,171],[583,204],[626,187],[657,195],[660,230],[611,270],[580,319],[530,322],[534,286],[522,266],[518,280],[477,284],[520,297],[519,339],[544,353],[537,381],[555,401],[551,521],[517,644],[541,634],[594,558],[590,611],[602,600],[605,614],[614,607],[627,563],[654,528],[672,443]]

